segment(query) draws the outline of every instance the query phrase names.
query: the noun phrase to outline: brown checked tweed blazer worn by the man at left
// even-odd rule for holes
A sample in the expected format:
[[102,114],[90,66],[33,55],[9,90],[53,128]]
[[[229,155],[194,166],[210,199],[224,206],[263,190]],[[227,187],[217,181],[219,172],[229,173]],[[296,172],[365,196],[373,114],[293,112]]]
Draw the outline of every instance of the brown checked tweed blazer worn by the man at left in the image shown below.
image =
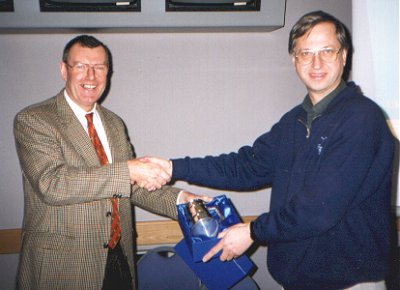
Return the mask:
[[179,189],[130,184],[133,149],[122,120],[97,106],[113,163],[100,166],[63,90],[19,112],[14,136],[22,169],[24,220],[17,289],[101,289],[110,236],[110,197],[120,199],[121,246],[135,287],[132,204],[176,218]]

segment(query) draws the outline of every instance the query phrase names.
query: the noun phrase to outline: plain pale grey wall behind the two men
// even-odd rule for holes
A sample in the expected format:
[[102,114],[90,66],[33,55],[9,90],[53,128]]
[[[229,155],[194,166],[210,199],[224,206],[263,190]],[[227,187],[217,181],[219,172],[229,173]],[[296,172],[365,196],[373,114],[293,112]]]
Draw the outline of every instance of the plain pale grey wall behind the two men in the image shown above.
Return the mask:
[[[302,101],[306,92],[287,54],[288,35],[300,16],[319,9],[351,27],[351,0],[288,0],[285,27],[270,33],[95,33],[114,59],[104,105],[126,121],[139,156],[203,156],[251,144]],[[20,228],[23,217],[13,118],[62,88],[58,62],[74,36],[0,34],[0,229]],[[268,210],[268,189],[228,195],[241,215]],[[160,218],[138,211],[137,219]],[[265,252],[260,248],[252,256],[254,277],[261,289],[280,290],[266,274]],[[1,289],[13,288],[17,258],[0,256]]]

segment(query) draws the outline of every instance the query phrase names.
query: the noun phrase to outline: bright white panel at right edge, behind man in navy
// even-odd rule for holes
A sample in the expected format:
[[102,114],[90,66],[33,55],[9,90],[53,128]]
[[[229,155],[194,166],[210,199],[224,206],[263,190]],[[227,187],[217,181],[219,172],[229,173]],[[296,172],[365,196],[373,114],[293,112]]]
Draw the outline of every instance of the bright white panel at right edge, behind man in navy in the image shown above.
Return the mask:
[[[353,8],[353,78],[384,109],[399,138],[399,1],[353,0]],[[399,183],[394,199],[400,207]]]

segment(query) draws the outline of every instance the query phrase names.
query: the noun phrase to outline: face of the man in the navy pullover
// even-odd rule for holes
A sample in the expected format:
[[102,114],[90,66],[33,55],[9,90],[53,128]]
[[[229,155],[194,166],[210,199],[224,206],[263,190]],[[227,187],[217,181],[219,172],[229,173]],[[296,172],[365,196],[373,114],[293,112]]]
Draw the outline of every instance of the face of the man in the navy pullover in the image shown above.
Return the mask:
[[[300,50],[318,51],[324,48],[335,50],[341,48],[336,37],[336,28],[330,22],[321,22],[303,36],[297,38],[294,52]],[[339,85],[346,63],[346,55],[347,51],[341,49],[335,61],[325,62],[316,54],[312,62],[306,65],[300,64],[296,57],[292,55],[297,75],[305,84],[314,105]]]

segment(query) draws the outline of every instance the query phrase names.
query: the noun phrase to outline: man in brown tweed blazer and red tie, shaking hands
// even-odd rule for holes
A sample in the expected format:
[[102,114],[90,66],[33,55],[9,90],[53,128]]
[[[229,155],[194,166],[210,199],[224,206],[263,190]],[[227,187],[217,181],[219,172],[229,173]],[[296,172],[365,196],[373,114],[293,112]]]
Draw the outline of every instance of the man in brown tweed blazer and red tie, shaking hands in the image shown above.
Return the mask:
[[25,203],[17,289],[135,289],[132,204],[176,218],[176,203],[197,197],[162,187],[167,174],[134,159],[123,121],[98,103],[111,71],[108,48],[78,36],[60,63],[65,88],[15,118]]

